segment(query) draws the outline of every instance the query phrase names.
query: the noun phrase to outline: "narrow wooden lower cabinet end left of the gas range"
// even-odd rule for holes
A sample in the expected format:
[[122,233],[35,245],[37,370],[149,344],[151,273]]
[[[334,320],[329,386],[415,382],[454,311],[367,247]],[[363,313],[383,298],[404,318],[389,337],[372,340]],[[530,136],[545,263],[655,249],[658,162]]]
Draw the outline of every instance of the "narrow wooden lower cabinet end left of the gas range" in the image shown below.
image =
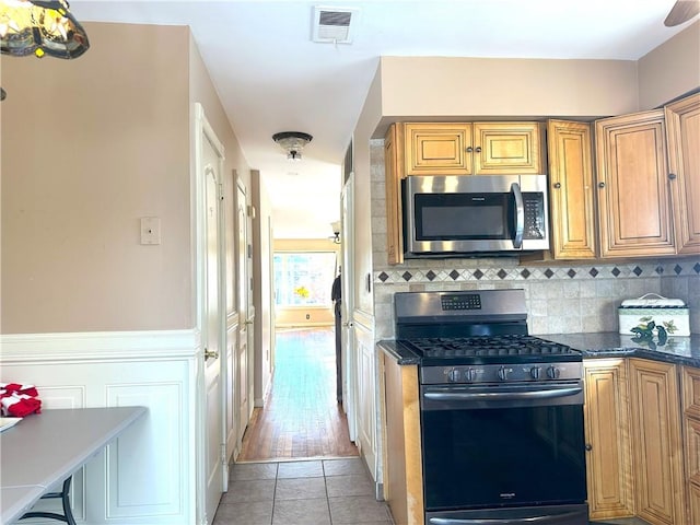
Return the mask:
[[423,525],[418,366],[380,351],[384,399],[384,499],[396,525]]

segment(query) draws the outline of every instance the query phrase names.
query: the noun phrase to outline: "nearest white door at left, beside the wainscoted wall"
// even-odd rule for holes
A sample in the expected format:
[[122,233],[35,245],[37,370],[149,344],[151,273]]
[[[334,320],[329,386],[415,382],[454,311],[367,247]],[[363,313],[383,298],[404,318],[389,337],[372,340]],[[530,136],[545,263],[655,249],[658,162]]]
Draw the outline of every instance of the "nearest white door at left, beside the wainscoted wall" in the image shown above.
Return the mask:
[[[200,472],[203,476],[206,523],[213,523],[219,500],[225,488],[228,469],[225,467],[225,399],[222,380],[225,377],[225,349],[222,304],[223,290],[223,207],[221,206],[223,167],[223,145],[218,141],[207,122],[200,105],[197,105],[198,142],[197,170],[198,185],[197,221],[198,236],[198,293],[200,306],[200,326],[203,347],[203,412],[202,458]],[[203,470],[203,472],[202,472]]]

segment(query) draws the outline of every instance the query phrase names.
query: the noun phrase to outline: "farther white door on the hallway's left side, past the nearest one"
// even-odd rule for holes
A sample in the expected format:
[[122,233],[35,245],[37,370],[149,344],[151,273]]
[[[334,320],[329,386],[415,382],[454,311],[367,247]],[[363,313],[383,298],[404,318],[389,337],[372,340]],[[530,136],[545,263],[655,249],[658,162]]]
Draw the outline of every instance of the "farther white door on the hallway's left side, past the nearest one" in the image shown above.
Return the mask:
[[237,370],[237,406],[238,406],[238,448],[243,441],[250,411],[253,410],[253,320],[254,313],[250,306],[253,294],[250,293],[250,260],[252,249],[248,246],[248,213],[246,189],[238,180],[236,192],[237,215],[237,300],[238,300],[238,348],[236,354]]

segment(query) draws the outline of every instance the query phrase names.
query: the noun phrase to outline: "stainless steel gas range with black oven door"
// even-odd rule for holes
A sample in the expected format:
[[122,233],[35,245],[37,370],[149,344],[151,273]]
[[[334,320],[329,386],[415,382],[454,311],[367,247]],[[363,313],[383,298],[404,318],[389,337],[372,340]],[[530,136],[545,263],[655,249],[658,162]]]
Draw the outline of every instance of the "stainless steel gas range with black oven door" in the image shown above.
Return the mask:
[[425,523],[587,525],[583,365],[523,290],[395,294],[419,358]]

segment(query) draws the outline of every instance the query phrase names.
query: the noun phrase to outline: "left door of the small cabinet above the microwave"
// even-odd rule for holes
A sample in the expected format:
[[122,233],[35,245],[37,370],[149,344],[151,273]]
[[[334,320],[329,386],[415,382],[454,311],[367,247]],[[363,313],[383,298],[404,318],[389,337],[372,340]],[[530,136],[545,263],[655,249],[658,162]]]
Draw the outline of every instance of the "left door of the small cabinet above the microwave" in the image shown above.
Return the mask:
[[470,124],[406,124],[405,133],[406,175],[471,175]]

